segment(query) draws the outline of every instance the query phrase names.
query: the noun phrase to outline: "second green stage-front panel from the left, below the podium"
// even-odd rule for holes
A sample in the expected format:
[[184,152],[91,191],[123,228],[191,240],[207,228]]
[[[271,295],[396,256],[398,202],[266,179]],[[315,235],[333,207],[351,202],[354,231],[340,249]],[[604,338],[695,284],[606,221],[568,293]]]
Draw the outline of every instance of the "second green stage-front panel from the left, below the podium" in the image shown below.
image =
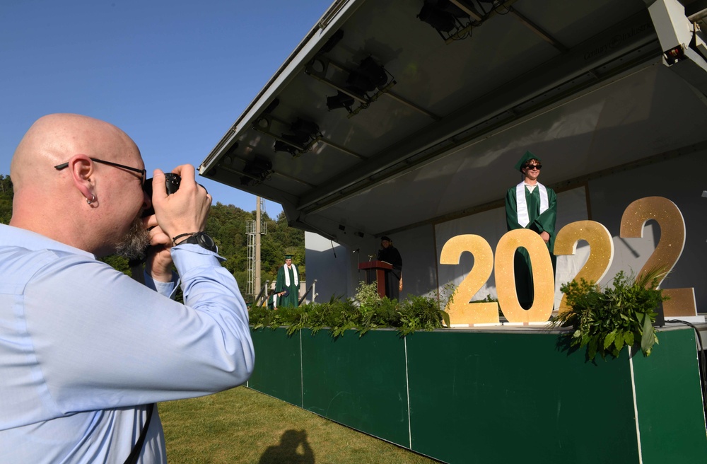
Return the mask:
[[395,330],[336,340],[302,331],[306,410],[381,439],[409,446],[405,347]]

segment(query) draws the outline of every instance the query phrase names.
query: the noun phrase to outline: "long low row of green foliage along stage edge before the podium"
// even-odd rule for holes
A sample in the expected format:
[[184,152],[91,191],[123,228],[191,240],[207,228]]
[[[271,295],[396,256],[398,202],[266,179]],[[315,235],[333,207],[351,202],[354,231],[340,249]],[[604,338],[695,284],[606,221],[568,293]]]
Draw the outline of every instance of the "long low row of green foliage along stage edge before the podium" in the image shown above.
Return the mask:
[[[446,301],[442,302],[442,308]],[[404,337],[416,330],[449,327],[449,315],[433,296],[412,296],[398,302],[378,296],[375,284],[359,284],[354,298],[332,296],[326,303],[308,303],[298,308],[251,308],[254,329],[287,327],[288,335],[309,327],[312,333],[324,328],[337,338],[354,329],[362,337],[375,328],[394,327]]]

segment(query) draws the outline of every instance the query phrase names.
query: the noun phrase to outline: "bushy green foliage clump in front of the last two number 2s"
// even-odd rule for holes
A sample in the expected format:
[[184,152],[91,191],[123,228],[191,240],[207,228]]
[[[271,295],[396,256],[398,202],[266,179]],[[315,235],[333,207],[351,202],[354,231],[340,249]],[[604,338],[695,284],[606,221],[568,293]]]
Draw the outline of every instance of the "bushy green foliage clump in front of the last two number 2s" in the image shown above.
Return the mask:
[[588,359],[600,354],[618,357],[624,347],[640,342],[641,351],[650,356],[658,343],[653,323],[655,309],[667,300],[658,282],[665,272],[653,269],[638,277],[623,271],[614,276],[612,286],[603,290],[594,282],[581,279],[561,286],[567,296],[567,311],[561,311],[553,320],[553,327],[571,327],[568,334],[571,347],[587,347]]

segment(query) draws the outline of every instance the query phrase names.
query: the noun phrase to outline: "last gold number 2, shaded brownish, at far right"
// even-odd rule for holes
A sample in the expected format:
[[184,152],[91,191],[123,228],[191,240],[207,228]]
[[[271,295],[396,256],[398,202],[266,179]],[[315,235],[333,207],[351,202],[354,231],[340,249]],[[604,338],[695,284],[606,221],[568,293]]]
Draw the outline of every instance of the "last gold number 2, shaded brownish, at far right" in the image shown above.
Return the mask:
[[[677,205],[663,197],[645,197],[629,204],[621,216],[621,238],[643,238],[643,226],[655,219],[660,226],[660,241],[638,275],[662,268],[666,273],[674,267],[685,246],[685,220]],[[665,277],[662,277],[665,279]],[[662,279],[660,282],[662,282]],[[660,282],[658,284],[660,285]],[[697,315],[694,288],[663,289],[670,299],[663,303],[666,316]]]

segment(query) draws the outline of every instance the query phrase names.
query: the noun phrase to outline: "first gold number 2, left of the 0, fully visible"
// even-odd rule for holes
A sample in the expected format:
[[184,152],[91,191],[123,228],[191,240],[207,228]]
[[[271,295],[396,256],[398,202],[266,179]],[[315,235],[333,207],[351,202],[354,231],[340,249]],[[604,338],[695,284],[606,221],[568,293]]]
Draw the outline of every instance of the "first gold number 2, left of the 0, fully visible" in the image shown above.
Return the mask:
[[440,264],[458,265],[459,258],[465,251],[474,255],[474,267],[459,284],[454,292],[452,303],[447,306],[450,324],[498,323],[498,304],[469,303],[472,296],[491,277],[493,252],[489,242],[480,236],[470,234],[452,237],[442,247]]

